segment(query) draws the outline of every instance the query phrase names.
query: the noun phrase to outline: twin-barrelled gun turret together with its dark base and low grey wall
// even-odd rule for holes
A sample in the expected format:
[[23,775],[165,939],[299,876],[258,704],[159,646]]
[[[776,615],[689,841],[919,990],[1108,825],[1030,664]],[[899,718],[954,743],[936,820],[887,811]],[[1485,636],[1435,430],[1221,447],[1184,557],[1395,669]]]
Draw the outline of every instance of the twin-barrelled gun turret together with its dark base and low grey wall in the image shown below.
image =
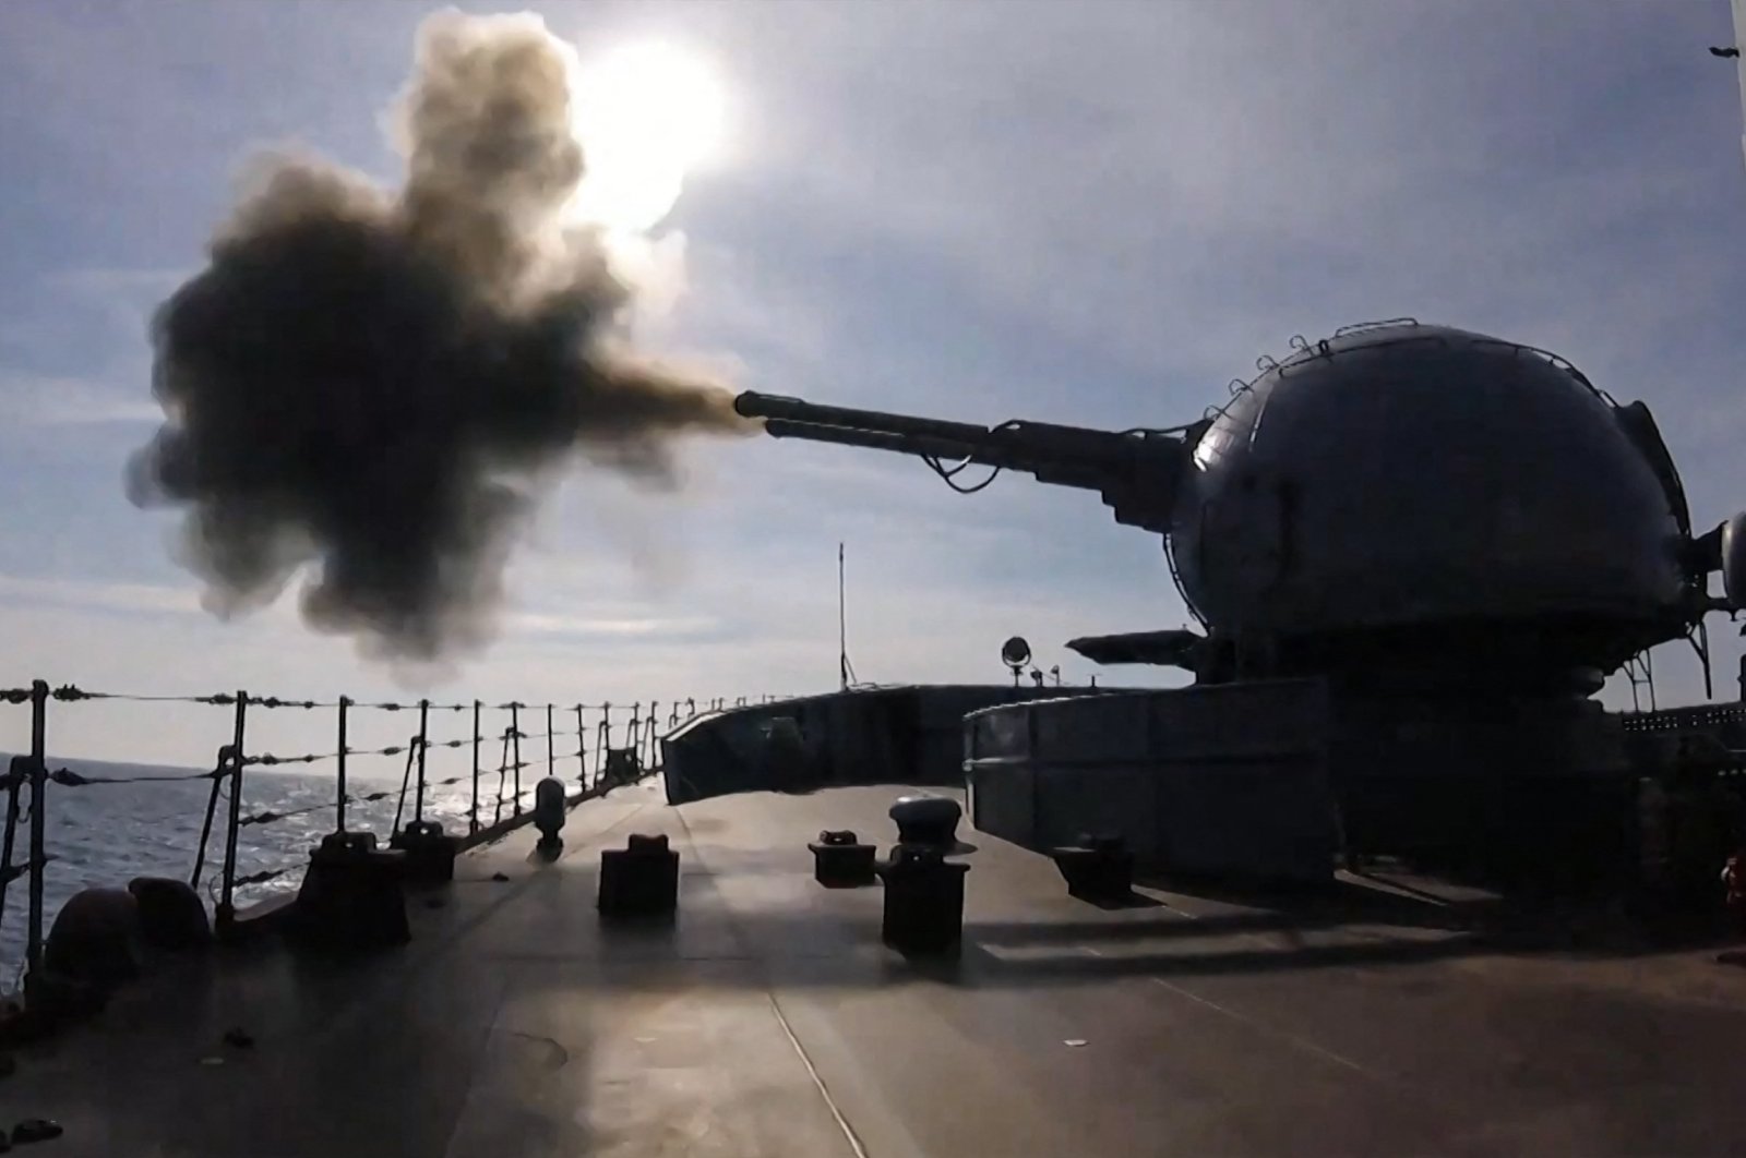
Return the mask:
[[[1161,535],[1198,630],[1069,645],[1194,685],[967,717],[978,830],[1035,849],[1119,832],[1198,874],[1325,879],[1334,849],[1638,872],[1666,844],[1641,837],[1643,787],[1688,769],[1666,720],[1594,692],[1655,644],[1708,652],[1704,616],[1746,607],[1746,516],[1694,534],[1648,408],[1519,342],[1400,319],[1257,370],[1168,429],[735,406],[779,438],[920,457],[957,490],[983,485],[962,481],[976,464],[1095,490]],[[1706,856],[1685,860],[1713,881]]]

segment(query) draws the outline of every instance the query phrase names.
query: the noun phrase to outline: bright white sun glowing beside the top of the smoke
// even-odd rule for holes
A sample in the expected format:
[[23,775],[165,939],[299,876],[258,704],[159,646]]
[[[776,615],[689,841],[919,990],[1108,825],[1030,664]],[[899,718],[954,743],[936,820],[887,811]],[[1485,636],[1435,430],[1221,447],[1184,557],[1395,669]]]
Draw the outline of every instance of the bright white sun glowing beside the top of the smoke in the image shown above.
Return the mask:
[[571,124],[587,174],[566,216],[629,234],[658,225],[719,145],[721,112],[714,77],[672,45],[627,45],[580,65]]

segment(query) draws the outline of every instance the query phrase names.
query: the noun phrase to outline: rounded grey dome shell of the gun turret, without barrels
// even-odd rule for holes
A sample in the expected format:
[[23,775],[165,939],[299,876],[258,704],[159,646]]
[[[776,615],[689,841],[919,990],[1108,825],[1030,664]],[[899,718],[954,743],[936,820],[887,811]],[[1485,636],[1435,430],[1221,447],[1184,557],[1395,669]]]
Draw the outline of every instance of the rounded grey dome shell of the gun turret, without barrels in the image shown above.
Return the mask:
[[1662,483],[1568,368],[1446,326],[1311,345],[1240,391],[1179,492],[1175,558],[1224,630],[1339,631],[1680,600]]

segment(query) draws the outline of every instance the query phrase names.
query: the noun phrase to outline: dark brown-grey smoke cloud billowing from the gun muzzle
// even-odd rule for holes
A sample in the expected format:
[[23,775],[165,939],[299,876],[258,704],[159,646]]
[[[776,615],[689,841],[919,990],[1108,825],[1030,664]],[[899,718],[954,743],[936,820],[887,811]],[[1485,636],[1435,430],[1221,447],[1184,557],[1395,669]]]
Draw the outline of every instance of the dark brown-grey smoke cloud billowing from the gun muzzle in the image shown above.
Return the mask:
[[435,16],[398,108],[403,188],[258,160],[154,321],[166,422],[136,502],[187,509],[206,602],[271,603],[374,656],[489,638],[531,502],[581,455],[672,481],[726,391],[620,349],[625,286],[560,209],[583,178],[571,56],[534,16]]

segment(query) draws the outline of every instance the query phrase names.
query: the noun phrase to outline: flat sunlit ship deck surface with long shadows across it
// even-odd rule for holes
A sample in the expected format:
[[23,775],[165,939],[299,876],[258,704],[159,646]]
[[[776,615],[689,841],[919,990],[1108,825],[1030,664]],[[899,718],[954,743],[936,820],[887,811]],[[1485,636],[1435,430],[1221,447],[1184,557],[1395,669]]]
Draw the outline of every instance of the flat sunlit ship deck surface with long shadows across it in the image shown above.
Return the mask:
[[[821,828],[890,839],[899,788],[578,807],[414,900],[354,964],[178,963],[19,1052],[0,1118],[44,1153],[157,1158],[691,1155],[1722,1155],[1746,1137],[1746,971],[1713,952],[1523,950],[1456,903],[1348,889],[1098,909],[962,832],[966,949],[880,945],[824,889]],[[599,849],[665,832],[670,928],[602,928]],[[494,881],[494,874],[508,881]],[[1362,896],[1360,896],[1362,893]],[[1447,900],[1447,898],[1444,898]],[[253,1048],[220,1043],[237,1025]]]

